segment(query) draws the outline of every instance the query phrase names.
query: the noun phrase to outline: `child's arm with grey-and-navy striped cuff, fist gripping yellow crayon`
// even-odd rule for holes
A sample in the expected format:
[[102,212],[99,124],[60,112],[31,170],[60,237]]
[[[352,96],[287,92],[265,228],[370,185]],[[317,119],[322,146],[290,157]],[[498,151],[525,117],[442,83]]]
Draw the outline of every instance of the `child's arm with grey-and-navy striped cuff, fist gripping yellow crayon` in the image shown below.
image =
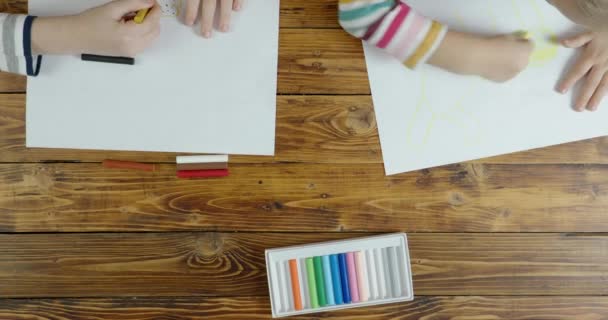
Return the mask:
[[[125,16],[152,8],[142,24]],[[35,76],[42,54],[135,56],[160,32],[154,0],[117,0],[78,15],[32,17],[0,13],[0,70]]]

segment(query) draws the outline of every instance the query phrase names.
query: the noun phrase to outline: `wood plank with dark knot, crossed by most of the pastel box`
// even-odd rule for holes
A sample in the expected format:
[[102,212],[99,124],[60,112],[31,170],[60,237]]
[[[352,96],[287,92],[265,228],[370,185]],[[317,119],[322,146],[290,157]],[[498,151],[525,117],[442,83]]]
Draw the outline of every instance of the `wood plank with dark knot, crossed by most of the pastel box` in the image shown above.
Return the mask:
[[[264,250],[352,233],[0,235],[1,297],[266,296]],[[410,234],[416,295],[606,295],[608,235]]]

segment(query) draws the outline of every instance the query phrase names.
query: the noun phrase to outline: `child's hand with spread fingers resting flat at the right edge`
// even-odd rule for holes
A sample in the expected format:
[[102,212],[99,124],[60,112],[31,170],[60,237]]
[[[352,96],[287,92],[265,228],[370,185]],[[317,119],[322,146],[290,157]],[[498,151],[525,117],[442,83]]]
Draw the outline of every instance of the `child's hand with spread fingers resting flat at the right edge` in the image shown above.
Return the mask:
[[566,93],[585,77],[585,84],[574,108],[577,111],[585,108],[597,110],[602,98],[608,93],[608,31],[582,33],[563,40],[562,44],[568,48],[582,48],[582,52],[558,90]]

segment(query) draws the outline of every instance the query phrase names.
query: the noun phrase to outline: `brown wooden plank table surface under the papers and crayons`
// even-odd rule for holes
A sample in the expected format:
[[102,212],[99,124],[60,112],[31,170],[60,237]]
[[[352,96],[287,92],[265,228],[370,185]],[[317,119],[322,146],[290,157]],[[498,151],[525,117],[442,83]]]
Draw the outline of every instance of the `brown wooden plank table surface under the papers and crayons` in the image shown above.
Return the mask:
[[301,318],[608,318],[608,140],[385,177],[335,2],[281,1],[276,157],[225,179],[26,149],[26,80],[0,74],[0,319],[267,319],[264,249],[396,231],[415,301]]

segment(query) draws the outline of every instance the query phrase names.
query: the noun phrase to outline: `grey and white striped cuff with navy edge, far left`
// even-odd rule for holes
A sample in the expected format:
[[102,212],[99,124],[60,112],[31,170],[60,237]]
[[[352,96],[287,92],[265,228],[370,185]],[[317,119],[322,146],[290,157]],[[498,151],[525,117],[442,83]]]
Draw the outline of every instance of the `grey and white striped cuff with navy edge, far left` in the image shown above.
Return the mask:
[[35,76],[42,57],[32,54],[32,23],[35,17],[0,13],[0,70]]

